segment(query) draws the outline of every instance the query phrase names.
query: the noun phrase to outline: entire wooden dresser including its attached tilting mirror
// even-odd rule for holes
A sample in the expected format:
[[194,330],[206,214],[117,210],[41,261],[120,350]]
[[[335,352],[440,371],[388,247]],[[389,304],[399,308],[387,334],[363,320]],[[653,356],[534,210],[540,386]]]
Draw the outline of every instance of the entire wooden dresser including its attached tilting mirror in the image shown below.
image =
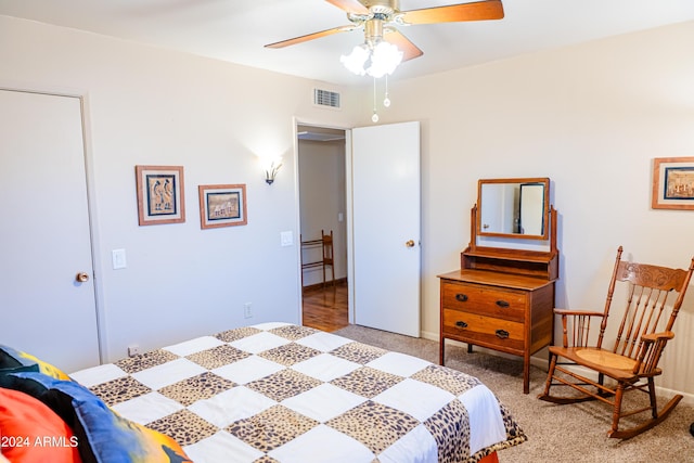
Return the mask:
[[[466,343],[468,352],[480,346],[522,356],[523,393],[530,391],[530,357],[554,335],[556,217],[548,178],[479,180],[460,269],[437,275],[441,364],[446,339]],[[542,250],[530,249],[540,244]]]

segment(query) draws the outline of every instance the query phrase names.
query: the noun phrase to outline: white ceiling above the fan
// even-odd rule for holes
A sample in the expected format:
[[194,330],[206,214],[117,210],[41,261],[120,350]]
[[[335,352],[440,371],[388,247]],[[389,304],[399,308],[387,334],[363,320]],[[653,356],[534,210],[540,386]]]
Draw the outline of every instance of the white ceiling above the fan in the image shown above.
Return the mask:
[[[400,0],[400,10],[462,0]],[[667,24],[694,21],[694,0],[503,0],[500,21],[400,27],[424,51],[391,79],[476,65]],[[23,17],[338,85],[369,83],[339,55],[360,30],[284,49],[265,44],[350,24],[324,0],[0,0]],[[0,36],[1,37],[1,36]]]

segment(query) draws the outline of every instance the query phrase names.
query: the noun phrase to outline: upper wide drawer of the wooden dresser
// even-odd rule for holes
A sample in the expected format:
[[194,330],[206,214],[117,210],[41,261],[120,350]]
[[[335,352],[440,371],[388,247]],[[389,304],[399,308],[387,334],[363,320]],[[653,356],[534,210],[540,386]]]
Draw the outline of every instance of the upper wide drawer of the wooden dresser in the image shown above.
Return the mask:
[[448,281],[441,284],[441,307],[446,309],[523,322],[527,301],[527,292]]

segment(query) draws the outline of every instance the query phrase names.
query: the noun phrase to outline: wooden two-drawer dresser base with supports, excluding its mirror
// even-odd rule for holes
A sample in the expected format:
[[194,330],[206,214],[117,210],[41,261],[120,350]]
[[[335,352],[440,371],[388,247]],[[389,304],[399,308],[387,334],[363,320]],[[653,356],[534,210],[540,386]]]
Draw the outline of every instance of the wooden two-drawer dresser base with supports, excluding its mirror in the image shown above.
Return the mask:
[[[476,208],[473,208],[473,219]],[[474,223],[474,220],[473,220]],[[440,279],[440,352],[446,339],[523,357],[529,393],[530,356],[553,340],[554,281],[558,278],[556,210],[551,208],[550,250],[481,247],[473,227],[461,269]]]

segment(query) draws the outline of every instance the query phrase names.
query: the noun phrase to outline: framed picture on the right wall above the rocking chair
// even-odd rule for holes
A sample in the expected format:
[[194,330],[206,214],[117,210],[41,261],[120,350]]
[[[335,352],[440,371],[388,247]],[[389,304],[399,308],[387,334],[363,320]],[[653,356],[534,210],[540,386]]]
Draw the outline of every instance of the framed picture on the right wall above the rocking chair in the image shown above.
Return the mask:
[[653,159],[652,207],[694,210],[694,157]]

